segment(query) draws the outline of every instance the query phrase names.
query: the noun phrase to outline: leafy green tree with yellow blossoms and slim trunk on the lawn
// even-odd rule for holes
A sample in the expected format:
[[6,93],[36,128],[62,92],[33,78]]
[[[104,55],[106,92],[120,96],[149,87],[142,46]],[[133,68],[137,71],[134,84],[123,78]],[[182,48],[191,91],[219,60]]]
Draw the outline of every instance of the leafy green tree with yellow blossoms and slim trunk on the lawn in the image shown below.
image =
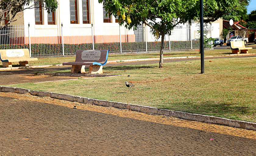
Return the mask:
[[[103,2],[107,14],[118,16],[120,25],[129,29],[140,24],[151,28],[155,37],[161,36],[159,68],[163,67],[165,34],[175,26],[190,20],[199,20],[200,0],[98,0]],[[247,0],[204,0],[204,23],[214,22],[234,11],[240,10]],[[106,15],[107,15],[106,14]]]

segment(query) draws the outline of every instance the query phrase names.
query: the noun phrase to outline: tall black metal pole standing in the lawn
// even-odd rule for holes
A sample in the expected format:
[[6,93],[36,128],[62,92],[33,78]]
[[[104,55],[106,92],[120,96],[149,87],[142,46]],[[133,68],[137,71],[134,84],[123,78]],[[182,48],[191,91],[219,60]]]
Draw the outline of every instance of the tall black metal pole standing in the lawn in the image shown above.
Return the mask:
[[201,53],[201,74],[204,74],[204,7],[203,0],[200,0],[200,53]]

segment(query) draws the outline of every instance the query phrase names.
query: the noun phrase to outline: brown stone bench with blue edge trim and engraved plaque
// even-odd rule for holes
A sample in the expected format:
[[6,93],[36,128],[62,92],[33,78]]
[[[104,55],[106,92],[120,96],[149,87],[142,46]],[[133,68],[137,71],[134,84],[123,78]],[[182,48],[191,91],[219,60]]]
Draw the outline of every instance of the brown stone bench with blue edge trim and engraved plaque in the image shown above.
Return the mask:
[[85,73],[89,65],[89,74],[102,74],[102,67],[107,63],[109,50],[77,50],[75,62],[63,62],[62,65],[72,65],[71,73]]

